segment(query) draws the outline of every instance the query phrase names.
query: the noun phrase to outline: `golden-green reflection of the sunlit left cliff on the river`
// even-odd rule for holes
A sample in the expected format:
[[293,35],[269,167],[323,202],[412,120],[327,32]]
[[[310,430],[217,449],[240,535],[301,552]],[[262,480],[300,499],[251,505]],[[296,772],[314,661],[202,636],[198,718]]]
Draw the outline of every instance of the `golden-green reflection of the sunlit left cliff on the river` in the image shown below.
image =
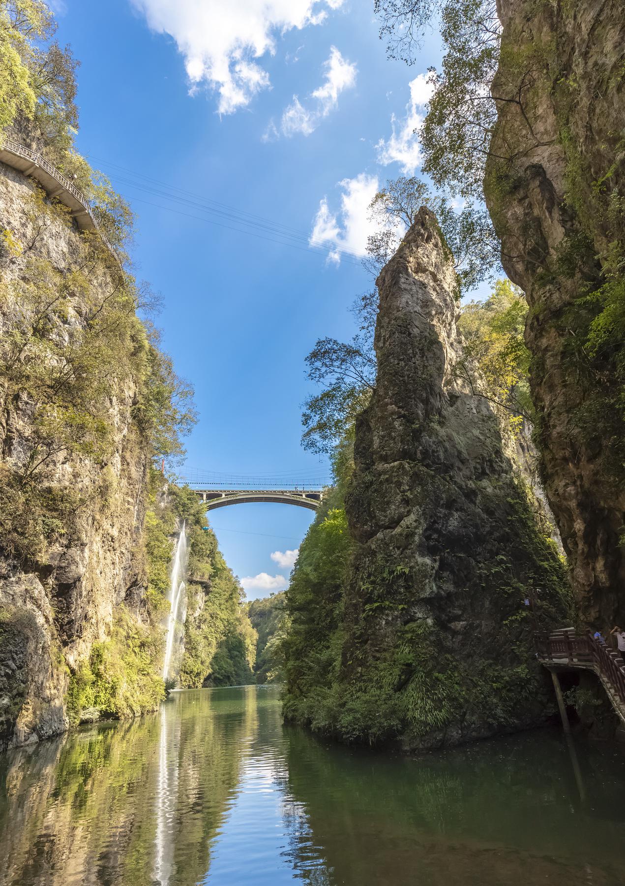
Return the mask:
[[242,716],[228,693],[187,693],[184,703],[174,694],[154,716],[3,758],[3,886],[201,880],[239,781],[255,702],[251,693]]

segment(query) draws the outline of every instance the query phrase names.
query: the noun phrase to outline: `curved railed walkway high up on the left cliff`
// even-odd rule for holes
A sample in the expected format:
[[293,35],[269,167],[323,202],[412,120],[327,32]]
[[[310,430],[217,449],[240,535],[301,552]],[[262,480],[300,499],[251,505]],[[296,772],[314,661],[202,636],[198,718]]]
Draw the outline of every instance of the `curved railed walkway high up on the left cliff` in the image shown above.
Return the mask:
[[89,200],[42,154],[32,151],[25,144],[14,142],[11,138],[4,138],[0,142],[0,161],[13,169],[18,169],[24,175],[35,178],[42,185],[48,197],[58,199],[60,203],[72,210],[72,217],[76,220],[80,230],[96,231],[106,248],[111,251],[116,260],[120,261],[117,250],[97,221]]

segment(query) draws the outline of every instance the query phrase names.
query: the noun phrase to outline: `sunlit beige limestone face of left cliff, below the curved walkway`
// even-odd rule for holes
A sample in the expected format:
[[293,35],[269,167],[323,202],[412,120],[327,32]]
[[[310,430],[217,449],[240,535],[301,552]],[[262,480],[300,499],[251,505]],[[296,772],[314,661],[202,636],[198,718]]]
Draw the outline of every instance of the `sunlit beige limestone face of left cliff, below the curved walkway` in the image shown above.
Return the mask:
[[0,232],[1,747],[66,728],[71,674],[122,605],[147,623],[150,448],[147,343],[117,263],[2,164]]

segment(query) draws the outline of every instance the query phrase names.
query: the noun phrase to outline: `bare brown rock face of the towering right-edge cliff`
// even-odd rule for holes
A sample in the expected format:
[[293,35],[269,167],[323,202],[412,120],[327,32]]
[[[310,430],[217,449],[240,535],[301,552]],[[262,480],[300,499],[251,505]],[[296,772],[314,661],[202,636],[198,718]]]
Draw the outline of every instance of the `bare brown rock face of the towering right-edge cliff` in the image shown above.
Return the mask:
[[589,624],[625,620],[625,16],[498,0],[485,191],[526,342],[546,494]]

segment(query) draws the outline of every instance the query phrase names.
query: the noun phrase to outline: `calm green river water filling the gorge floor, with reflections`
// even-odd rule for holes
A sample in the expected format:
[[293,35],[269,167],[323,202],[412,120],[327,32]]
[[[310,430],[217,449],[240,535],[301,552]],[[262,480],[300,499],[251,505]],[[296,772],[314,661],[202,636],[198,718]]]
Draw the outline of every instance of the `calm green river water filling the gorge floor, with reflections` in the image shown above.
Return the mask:
[[622,886],[625,750],[541,730],[421,758],[282,725],[276,688],[0,758],[0,883]]

